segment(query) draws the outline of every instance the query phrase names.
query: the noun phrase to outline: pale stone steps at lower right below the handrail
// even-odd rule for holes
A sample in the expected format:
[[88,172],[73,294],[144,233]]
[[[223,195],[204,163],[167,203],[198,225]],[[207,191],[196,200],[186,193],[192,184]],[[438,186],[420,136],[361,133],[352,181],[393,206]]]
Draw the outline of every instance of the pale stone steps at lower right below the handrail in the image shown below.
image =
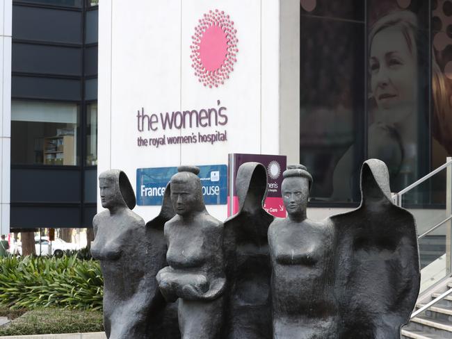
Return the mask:
[[[452,278],[444,281],[441,286],[418,300],[416,309],[439,297],[452,288]],[[403,339],[452,339],[452,294],[444,297],[426,311],[413,317],[402,329]]]

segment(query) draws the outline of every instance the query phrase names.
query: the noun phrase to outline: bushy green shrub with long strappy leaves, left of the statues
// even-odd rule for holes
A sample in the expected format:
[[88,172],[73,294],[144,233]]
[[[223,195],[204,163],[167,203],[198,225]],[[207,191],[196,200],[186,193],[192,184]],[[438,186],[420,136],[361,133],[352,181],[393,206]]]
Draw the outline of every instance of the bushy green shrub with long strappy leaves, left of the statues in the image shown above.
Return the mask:
[[102,310],[103,286],[99,263],[76,255],[0,259],[0,304],[12,309]]

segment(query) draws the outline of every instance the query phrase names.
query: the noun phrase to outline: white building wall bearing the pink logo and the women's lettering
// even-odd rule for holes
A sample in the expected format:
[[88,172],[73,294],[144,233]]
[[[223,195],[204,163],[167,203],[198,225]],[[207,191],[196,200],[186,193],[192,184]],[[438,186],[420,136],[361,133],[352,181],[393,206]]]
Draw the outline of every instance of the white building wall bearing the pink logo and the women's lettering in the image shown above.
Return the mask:
[[[191,37],[198,19],[217,8],[234,21],[239,53],[224,85],[205,88],[193,75]],[[135,188],[140,167],[227,164],[229,153],[285,154],[290,162],[298,162],[299,11],[298,0],[102,2],[98,173],[123,169]],[[141,108],[148,115],[199,111],[217,108],[217,100],[227,107],[225,126],[137,131],[136,114]],[[224,130],[227,142],[213,145],[137,146],[138,136]],[[219,219],[226,217],[226,206],[207,208]],[[145,220],[158,210],[136,207]]]

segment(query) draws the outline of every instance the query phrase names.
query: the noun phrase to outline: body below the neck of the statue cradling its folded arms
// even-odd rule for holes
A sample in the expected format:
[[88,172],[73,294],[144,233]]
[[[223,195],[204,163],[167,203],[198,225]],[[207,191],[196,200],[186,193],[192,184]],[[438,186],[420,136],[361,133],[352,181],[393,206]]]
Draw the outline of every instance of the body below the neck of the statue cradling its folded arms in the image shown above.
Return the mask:
[[156,279],[168,301],[179,298],[181,338],[216,339],[223,322],[223,223],[207,211],[165,224],[168,266]]

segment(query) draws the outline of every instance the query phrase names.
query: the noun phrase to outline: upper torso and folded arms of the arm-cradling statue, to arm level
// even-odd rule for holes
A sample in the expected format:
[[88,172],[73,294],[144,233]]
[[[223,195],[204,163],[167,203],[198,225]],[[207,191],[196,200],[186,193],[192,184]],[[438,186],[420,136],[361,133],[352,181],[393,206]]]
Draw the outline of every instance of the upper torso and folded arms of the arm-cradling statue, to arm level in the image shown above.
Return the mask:
[[[184,220],[176,215],[165,224],[166,261],[157,276],[168,300],[203,299],[225,284],[223,272],[223,224],[203,211]],[[221,281],[219,285],[216,283]],[[187,292],[187,289],[189,290]]]

